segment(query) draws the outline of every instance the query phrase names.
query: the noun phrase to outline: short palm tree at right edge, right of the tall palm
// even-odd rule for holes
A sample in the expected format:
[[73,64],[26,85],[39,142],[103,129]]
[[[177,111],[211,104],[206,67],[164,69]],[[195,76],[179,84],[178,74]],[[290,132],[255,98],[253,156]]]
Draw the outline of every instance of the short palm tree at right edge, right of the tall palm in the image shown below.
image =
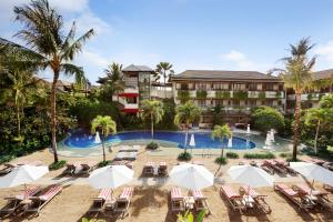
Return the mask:
[[333,111],[332,109],[323,109],[323,108],[312,108],[306,110],[305,113],[305,124],[306,125],[316,125],[315,127],[315,135],[314,135],[314,152],[317,153],[317,138],[320,128],[332,123],[333,121]]

